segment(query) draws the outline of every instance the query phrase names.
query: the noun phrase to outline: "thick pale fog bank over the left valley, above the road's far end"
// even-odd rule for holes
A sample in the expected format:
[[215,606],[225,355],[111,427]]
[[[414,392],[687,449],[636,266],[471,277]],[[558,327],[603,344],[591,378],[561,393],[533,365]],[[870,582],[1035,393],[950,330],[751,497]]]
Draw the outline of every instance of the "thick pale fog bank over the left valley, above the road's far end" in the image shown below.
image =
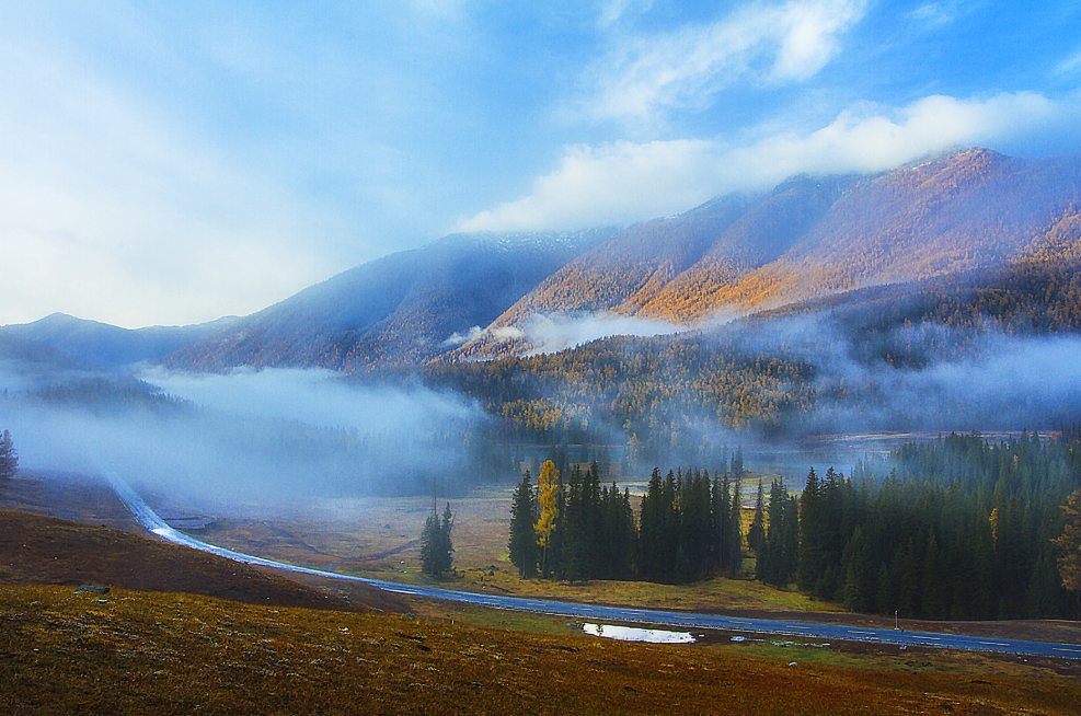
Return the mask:
[[252,505],[301,509],[326,497],[430,495],[434,486],[457,494],[491,476],[473,464],[469,444],[485,418],[453,394],[356,386],[322,370],[153,370],[142,378],[168,396],[9,393],[0,426],[12,432],[20,467],[95,474],[107,465],[148,495],[218,513]]

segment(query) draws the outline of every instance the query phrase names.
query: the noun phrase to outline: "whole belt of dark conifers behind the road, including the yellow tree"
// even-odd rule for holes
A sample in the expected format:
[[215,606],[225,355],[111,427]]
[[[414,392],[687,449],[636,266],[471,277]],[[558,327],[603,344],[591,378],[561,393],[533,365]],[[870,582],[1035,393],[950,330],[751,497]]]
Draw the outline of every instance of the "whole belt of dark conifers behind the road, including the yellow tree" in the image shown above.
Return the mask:
[[[555,455],[556,458],[559,455]],[[741,470],[741,465],[737,465]],[[800,497],[759,485],[743,526],[738,472],[655,469],[635,519],[626,489],[594,462],[529,471],[515,493],[510,557],[525,577],[690,582],[740,574],[910,619],[1073,619],[1081,533],[1065,510],[1081,488],[1081,431],[992,442],[978,434],[907,443],[846,476],[814,470]],[[1074,510],[1076,511],[1076,510]],[[1071,532],[1072,529],[1072,532]],[[1066,579],[1063,579],[1063,577]]]

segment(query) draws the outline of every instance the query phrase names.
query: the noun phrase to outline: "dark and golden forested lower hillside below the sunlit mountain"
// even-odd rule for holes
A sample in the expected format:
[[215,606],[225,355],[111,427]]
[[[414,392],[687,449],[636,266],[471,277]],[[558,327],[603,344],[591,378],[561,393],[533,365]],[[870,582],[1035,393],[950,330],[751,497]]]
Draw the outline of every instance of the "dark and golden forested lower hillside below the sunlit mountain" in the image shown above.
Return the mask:
[[[962,392],[944,395],[929,416],[895,390],[936,366],[984,360],[996,340],[1038,340],[1081,327],[1077,257],[1047,259],[1055,251],[1045,247],[993,275],[862,289],[677,336],[616,336],[552,354],[434,362],[421,379],[478,401],[504,421],[509,441],[634,442],[653,464],[701,462],[722,431],[782,439],[843,429],[839,413],[879,429],[1072,423],[1081,415],[1069,402],[980,409],[955,400]],[[982,424],[966,425],[976,418]]]

